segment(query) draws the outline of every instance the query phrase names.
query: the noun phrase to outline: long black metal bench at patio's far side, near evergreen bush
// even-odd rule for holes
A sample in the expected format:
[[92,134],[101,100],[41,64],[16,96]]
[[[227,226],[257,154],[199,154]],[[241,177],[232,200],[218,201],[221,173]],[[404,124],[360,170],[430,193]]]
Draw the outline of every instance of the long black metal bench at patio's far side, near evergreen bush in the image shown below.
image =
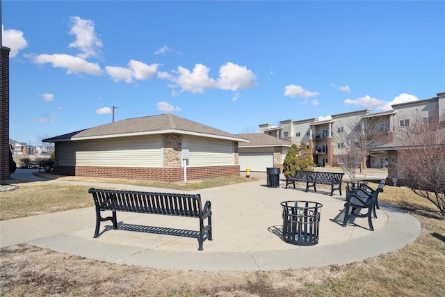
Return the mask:
[[[296,170],[294,175],[286,176],[286,188],[289,184],[293,184],[293,188],[295,188],[295,182],[305,182],[307,192],[311,187],[314,187],[314,191],[317,191],[316,184],[327,184],[331,186],[331,196],[335,190],[339,190],[341,195],[341,179],[343,179],[343,175],[343,172]],[[336,185],[338,186],[335,187]]]

